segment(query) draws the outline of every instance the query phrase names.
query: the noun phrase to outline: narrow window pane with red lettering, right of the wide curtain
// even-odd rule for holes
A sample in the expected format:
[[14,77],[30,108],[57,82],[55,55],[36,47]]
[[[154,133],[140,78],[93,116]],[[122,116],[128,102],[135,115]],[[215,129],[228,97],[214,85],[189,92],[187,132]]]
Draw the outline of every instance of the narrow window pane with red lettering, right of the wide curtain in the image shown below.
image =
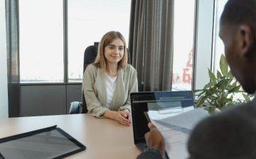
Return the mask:
[[174,90],[191,90],[194,12],[194,0],[174,1]]

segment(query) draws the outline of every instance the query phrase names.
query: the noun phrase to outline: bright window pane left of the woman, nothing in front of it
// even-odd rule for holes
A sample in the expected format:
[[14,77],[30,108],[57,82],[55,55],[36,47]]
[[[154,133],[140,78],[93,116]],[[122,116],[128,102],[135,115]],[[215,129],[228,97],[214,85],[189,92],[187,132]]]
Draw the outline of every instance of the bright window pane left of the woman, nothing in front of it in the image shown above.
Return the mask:
[[19,1],[21,82],[63,82],[63,1]]

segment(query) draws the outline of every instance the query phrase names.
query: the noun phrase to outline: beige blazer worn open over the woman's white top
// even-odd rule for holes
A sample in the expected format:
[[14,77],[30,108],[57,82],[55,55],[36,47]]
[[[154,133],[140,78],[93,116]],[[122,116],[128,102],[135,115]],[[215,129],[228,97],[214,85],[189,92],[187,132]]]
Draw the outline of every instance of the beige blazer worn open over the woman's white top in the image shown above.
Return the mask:
[[107,103],[105,78],[106,75],[102,69],[92,64],[87,66],[82,79],[82,89],[85,94],[88,113],[100,118],[107,110],[129,109],[131,111],[129,94],[138,92],[137,71],[134,67],[127,65],[126,68],[120,68],[117,71],[117,83],[114,88],[110,109],[105,107]]

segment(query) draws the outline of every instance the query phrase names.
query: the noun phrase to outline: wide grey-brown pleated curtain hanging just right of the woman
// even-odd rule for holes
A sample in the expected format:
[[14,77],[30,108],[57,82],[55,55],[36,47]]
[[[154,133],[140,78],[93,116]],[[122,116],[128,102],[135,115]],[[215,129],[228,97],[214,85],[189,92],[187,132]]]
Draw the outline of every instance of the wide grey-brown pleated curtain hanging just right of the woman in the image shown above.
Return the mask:
[[171,90],[174,0],[132,0],[129,33],[139,91]]

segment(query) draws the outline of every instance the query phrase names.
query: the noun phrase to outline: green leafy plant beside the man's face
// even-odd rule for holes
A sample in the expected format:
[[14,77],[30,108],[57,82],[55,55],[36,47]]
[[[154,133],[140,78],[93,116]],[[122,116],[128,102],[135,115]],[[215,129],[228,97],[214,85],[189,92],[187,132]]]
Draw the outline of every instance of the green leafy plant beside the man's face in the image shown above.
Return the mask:
[[240,83],[230,70],[228,71],[228,63],[224,55],[220,57],[220,71],[217,71],[217,75],[215,76],[209,69],[208,75],[210,82],[203,89],[196,91],[200,92],[196,95],[198,96],[196,107],[205,106],[209,113],[213,113],[216,109],[221,110],[227,106],[250,102],[252,95],[244,92]]

